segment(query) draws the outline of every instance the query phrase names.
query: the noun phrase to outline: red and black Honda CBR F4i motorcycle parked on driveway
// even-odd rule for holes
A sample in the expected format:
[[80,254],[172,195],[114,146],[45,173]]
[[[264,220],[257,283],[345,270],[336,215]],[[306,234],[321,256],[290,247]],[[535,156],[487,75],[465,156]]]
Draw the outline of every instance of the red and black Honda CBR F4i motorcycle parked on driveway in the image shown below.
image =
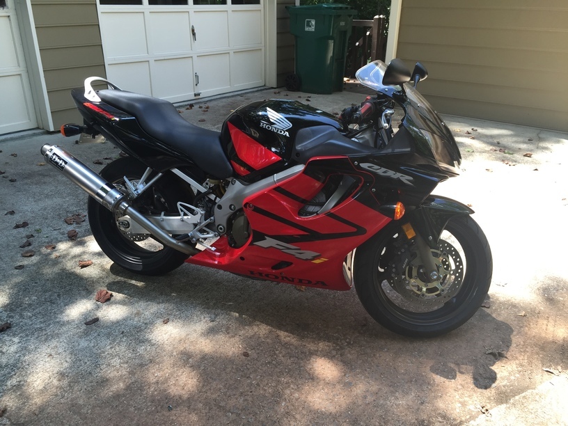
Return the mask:
[[327,290],[354,285],[387,329],[447,333],[478,310],[492,273],[473,211],[431,194],[459,174],[459,149],[416,90],[423,65],[374,61],[356,77],[376,95],[339,118],[262,100],[231,113],[221,132],[91,77],[72,90],[84,123],[61,133],[102,134],[127,156],[97,175],[56,145],[41,152],[90,195],[93,236],[128,271],[166,274],[188,262]]

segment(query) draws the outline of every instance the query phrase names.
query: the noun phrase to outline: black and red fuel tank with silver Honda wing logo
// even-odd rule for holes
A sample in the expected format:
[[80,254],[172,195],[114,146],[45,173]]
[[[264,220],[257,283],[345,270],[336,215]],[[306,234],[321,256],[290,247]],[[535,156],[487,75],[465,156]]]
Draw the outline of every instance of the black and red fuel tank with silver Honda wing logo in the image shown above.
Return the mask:
[[329,125],[347,128],[329,113],[294,100],[262,100],[244,105],[228,116],[221,143],[235,172],[255,182],[297,163],[292,158],[300,129]]

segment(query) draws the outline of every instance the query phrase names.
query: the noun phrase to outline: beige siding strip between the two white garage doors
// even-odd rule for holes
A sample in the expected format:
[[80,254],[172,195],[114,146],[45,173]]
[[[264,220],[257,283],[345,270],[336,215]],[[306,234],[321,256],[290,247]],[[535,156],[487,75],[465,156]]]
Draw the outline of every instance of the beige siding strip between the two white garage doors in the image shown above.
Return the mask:
[[96,0],[31,4],[54,127],[80,122],[70,89],[86,77],[106,77]]

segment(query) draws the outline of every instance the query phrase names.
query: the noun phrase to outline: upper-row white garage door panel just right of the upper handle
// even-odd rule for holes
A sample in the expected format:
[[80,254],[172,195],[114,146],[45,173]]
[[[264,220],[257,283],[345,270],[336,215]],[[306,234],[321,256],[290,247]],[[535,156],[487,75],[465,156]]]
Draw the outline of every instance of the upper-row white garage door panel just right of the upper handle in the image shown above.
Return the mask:
[[226,10],[194,12],[195,49],[211,50],[229,47],[229,18]]

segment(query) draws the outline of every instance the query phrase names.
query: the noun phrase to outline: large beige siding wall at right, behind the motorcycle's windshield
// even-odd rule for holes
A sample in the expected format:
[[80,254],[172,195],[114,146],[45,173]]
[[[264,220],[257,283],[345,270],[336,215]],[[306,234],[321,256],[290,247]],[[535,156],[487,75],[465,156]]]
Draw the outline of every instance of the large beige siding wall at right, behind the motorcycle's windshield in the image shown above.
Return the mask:
[[568,131],[566,0],[403,0],[397,57],[438,111]]

